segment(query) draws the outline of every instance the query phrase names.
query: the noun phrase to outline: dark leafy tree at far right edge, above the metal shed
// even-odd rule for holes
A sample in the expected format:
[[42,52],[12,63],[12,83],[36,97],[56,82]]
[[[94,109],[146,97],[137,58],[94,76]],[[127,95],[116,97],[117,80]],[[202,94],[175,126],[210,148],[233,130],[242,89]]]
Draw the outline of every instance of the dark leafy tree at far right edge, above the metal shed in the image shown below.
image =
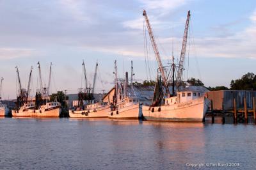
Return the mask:
[[256,90],[256,75],[248,72],[241,79],[232,80],[230,82],[230,89]]

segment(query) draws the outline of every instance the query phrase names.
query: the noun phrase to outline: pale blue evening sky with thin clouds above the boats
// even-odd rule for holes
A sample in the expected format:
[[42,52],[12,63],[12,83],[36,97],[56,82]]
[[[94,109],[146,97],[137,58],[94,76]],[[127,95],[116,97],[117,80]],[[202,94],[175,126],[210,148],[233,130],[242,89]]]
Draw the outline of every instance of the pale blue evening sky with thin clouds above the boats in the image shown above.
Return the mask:
[[157,63],[143,29],[143,10],[164,66],[170,64],[172,54],[179,61],[186,16],[191,11],[184,80],[195,77],[205,86],[229,87],[232,79],[256,73],[254,0],[0,0],[2,97],[16,98],[15,66],[22,88],[27,88],[33,66],[31,95],[35,94],[38,61],[44,84],[53,63],[52,93],[77,93],[83,86],[83,60],[90,84],[99,63],[96,93],[113,87],[115,60],[118,77],[124,72],[131,75],[132,60],[136,81],[156,79]]

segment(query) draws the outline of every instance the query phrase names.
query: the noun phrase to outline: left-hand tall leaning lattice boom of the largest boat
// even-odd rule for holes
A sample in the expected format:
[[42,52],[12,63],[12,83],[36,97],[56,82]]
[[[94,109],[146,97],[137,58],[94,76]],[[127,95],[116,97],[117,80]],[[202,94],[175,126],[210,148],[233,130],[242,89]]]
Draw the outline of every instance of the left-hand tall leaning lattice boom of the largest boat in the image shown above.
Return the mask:
[[149,23],[149,20],[148,20],[148,17],[147,17],[147,13],[146,13],[145,10],[143,10],[143,16],[145,17],[145,21],[146,21],[147,28],[148,28],[148,34],[150,36],[152,47],[153,47],[154,52],[155,52],[158,67],[159,67],[159,70],[161,72],[161,77],[163,79],[164,86],[166,88],[166,93],[168,93],[168,95],[170,95],[170,91],[168,89],[168,82],[167,82],[167,79],[166,79],[166,75],[164,73],[164,68],[163,68],[163,64],[162,64],[162,61],[161,61],[161,57],[160,57],[159,51],[157,49],[157,45],[156,45],[156,41],[155,41],[155,38],[154,38],[154,35],[153,35],[153,31],[152,31],[152,28],[150,26],[150,23]]

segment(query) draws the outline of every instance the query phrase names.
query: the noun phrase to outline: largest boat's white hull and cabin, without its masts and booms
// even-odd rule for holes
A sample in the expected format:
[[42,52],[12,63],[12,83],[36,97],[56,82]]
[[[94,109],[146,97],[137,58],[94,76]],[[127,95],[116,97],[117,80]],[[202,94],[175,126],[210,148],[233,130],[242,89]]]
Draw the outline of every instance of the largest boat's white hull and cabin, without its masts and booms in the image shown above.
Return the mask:
[[145,120],[202,122],[211,102],[204,87],[187,87],[177,96],[164,98],[163,105],[142,106]]

